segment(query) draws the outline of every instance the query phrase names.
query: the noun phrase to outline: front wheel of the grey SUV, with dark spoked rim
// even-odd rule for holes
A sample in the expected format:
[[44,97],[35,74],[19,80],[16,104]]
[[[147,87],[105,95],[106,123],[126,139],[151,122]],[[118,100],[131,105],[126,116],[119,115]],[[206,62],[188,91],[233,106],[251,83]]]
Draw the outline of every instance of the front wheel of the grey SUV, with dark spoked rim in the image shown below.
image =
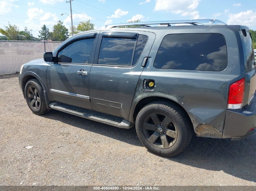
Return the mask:
[[33,113],[42,115],[49,111],[46,107],[44,89],[37,79],[29,80],[24,91],[28,107]]

